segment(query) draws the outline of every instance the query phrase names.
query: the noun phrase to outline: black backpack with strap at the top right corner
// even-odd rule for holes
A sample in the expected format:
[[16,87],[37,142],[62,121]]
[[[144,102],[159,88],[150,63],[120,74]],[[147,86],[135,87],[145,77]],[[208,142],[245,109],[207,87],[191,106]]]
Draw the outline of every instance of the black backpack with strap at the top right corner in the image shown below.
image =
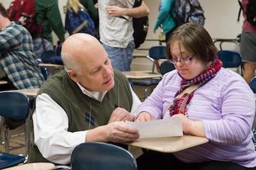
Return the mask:
[[[238,0],[238,3],[240,5],[240,10],[238,13],[238,21],[239,21],[241,11],[244,10],[244,8],[242,7],[241,1]],[[248,0],[245,14],[246,14],[247,21],[253,26],[256,26],[256,1],[255,0]]]

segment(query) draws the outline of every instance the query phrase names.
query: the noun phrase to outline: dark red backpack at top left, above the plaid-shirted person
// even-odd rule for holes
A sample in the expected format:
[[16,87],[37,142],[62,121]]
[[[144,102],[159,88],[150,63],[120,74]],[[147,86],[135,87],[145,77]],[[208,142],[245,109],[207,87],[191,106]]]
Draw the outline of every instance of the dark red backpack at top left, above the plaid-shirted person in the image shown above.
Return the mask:
[[14,0],[8,9],[8,18],[22,24],[31,35],[42,33],[42,25],[35,23],[35,1]]

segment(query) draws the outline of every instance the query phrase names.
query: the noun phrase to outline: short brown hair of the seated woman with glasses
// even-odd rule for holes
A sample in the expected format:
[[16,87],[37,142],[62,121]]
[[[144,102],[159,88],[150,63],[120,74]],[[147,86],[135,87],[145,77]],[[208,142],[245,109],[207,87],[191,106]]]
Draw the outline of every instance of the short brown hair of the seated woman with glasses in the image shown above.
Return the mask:
[[209,63],[216,58],[217,48],[214,46],[208,31],[195,22],[182,24],[171,33],[165,48],[167,59],[172,58],[171,45],[174,42],[182,44],[188,52],[203,63]]

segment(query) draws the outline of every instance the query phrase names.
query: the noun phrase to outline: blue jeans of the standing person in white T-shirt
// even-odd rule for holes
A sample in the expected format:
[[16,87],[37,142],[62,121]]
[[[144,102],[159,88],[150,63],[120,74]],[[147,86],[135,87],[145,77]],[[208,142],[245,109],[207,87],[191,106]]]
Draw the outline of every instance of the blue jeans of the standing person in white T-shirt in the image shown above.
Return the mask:
[[107,46],[102,43],[102,46],[109,55],[112,66],[119,71],[130,71],[130,63],[132,63],[132,52],[134,50],[134,41],[130,42],[126,48],[117,48]]

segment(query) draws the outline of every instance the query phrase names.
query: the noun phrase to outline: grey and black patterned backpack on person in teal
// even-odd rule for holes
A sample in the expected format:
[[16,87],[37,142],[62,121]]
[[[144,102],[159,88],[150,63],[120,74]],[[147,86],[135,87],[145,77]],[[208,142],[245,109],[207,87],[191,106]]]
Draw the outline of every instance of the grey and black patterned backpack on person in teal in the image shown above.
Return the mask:
[[[205,17],[203,9],[197,0],[175,0],[174,3],[175,16],[171,12],[177,26],[186,22],[197,22],[204,25]],[[172,8],[171,8],[172,9]]]

